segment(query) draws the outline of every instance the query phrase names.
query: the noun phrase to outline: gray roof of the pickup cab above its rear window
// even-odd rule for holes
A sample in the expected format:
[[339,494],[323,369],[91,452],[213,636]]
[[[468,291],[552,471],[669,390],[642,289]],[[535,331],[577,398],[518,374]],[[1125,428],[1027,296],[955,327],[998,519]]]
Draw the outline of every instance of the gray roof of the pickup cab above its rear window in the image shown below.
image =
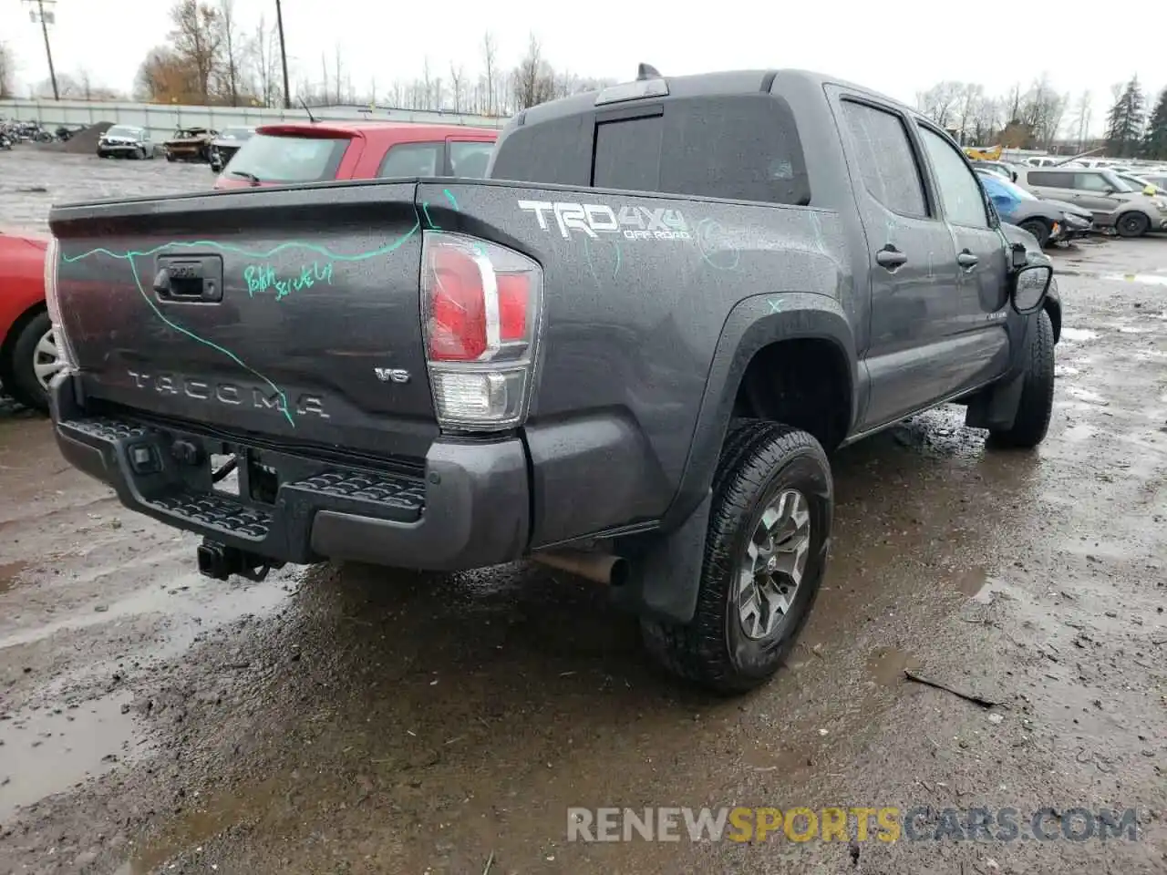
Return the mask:
[[[652,76],[649,78],[657,77]],[[656,98],[645,97],[637,99],[661,100],[684,97],[707,97],[711,94],[750,94],[768,92],[774,84],[774,80],[781,78],[784,82],[796,83],[802,88],[822,88],[827,84],[843,85],[851,91],[858,91],[860,93],[869,94],[871,97],[883,103],[894,104],[911,116],[920,116],[917,110],[901,103],[900,100],[888,97],[887,94],[864,88],[862,85],[857,85],[853,82],[847,82],[838,76],[827,76],[825,74],[812,72],[810,70],[728,70],[724,72],[693,74],[689,76],[662,75],[659,78],[664,79],[669,86],[668,97],[659,96]],[[572,94],[571,97],[561,98],[559,100],[551,100],[550,103],[532,106],[519,112],[511,124],[537,124],[540,121],[550,121],[555,118],[562,118],[565,116],[593,112],[596,108],[595,98],[601,91],[603,91],[603,89],[586,91],[579,94]],[[620,104],[613,104],[613,106],[627,105],[628,103],[634,102],[621,102]]]

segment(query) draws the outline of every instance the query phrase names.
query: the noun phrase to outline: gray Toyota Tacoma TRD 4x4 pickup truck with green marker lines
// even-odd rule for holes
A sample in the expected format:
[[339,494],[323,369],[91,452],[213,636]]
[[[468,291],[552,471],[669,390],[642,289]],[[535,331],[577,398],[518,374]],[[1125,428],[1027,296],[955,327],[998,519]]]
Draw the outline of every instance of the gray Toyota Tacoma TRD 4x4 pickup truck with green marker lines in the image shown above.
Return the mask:
[[1044,436],[1057,304],[952,140],[799,71],[520,112],[485,180],[54,208],[56,440],[203,573],[532,558],[739,692],[825,572],[827,454]]

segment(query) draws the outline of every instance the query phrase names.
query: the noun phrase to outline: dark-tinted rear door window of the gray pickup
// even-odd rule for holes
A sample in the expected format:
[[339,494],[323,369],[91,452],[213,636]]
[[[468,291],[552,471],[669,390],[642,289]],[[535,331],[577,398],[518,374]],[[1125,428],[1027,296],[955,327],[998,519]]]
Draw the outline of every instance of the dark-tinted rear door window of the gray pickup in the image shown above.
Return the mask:
[[901,216],[927,217],[920,166],[903,120],[896,113],[854,100],[843,102],[843,114],[855,144],[864,186],[872,197]]

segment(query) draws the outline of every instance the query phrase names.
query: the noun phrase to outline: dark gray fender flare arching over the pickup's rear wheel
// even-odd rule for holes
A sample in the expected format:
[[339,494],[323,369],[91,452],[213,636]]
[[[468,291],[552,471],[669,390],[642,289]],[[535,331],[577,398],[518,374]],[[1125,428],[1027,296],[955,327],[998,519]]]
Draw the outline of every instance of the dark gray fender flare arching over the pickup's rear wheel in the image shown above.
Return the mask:
[[662,519],[663,530],[682,525],[708,495],[741,378],[755,354],[764,346],[792,340],[832,342],[847,365],[852,399],[847,429],[853,428],[861,412],[866,380],[860,379],[851,323],[836,299],[815,293],[752,295],[734,306],[721,328],[710,364],[689,455],[677,492]]

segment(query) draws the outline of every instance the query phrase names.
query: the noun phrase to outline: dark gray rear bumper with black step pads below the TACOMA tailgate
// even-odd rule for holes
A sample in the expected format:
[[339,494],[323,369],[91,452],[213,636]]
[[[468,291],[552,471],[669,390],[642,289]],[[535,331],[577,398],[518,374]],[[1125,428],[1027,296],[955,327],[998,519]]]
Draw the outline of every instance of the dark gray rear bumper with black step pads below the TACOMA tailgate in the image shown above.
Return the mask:
[[[527,544],[518,439],[438,440],[422,470],[386,471],[93,416],[77,399],[72,378],[54,382],[56,441],[72,466],[109,483],[132,510],[256,555],[457,570],[518,559]],[[216,490],[210,456],[225,452],[247,456],[265,477],[274,471],[274,501],[251,499],[251,464],[239,466],[238,496]]]

